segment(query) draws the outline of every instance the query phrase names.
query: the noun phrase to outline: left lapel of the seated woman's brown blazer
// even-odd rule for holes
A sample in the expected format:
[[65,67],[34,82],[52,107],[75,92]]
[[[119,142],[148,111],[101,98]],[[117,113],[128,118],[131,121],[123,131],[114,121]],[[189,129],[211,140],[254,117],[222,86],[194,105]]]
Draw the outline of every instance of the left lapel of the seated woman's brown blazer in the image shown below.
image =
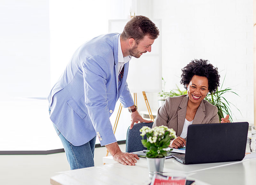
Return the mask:
[[184,96],[184,98],[182,99],[179,105],[180,110],[177,111],[177,115],[178,115],[177,136],[180,136],[182,132],[185,118],[186,118],[186,113],[187,113],[187,106],[188,106],[188,96]]

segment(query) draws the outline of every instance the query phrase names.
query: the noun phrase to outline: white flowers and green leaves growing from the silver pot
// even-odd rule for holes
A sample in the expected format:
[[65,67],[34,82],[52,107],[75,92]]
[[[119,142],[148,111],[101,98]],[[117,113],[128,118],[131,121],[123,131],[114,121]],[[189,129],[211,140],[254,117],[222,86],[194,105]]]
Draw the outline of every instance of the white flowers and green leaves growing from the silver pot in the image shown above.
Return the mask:
[[[166,126],[159,126],[150,129],[144,126],[140,129],[140,136],[142,136],[141,143],[148,149],[146,157],[148,158],[162,158],[167,156],[166,148],[170,144],[172,138],[176,138],[176,132]],[[146,135],[147,139],[143,137]]]

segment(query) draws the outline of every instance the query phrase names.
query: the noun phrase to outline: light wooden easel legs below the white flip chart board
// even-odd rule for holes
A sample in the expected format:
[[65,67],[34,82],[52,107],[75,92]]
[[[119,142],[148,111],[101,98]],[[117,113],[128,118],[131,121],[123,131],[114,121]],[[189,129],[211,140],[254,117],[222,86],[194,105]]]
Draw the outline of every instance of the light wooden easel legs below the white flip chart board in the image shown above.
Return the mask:
[[[143,94],[143,97],[144,97],[144,100],[145,100],[145,103],[146,103],[146,106],[147,106],[147,109],[148,109],[149,118],[150,118],[151,121],[154,122],[153,114],[151,112],[151,109],[150,109],[150,106],[149,106],[148,99],[147,99],[145,91],[142,91],[142,94]],[[134,104],[137,105],[137,93],[133,93],[133,98],[134,98]],[[118,109],[118,112],[117,112],[117,115],[116,115],[116,121],[115,121],[115,124],[114,124],[114,127],[113,127],[114,134],[116,133],[116,127],[117,127],[117,123],[118,123],[118,120],[119,120],[122,108],[123,108],[123,106],[120,103],[120,106],[119,106],[119,109]],[[107,150],[106,157],[107,156],[108,156],[108,150]],[[104,165],[105,165],[105,163],[104,163]]]

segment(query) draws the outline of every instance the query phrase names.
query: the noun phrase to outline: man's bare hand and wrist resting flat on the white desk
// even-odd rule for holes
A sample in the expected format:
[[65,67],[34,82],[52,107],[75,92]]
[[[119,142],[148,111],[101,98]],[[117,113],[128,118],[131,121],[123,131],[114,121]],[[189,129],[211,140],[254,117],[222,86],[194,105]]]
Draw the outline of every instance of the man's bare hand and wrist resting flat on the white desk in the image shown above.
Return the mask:
[[134,166],[135,163],[137,162],[136,159],[140,159],[137,154],[132,154],[132,153],[127,153],[127,152],[122,152],[117,144],[111,143],[105,145],[108,151],[111,153],[113,156],[113,159],[117,162],[120,162],[123,165],[130,165]]

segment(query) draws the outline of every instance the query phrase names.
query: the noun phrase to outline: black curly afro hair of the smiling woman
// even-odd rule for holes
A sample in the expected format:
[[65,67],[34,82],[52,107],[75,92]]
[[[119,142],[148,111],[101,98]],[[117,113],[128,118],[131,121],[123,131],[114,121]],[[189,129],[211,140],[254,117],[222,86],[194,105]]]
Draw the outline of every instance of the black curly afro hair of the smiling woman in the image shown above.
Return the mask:
[[194,75],[206,77],[208,79],[208,89],[210,93],[216,92],[218,86],[220,86],[218,68],[208,63],[208,60],[194,59],[186,67],[181,69],[181,71],[180,84],[184,85],[185,89],[188,89],[187,85]]

